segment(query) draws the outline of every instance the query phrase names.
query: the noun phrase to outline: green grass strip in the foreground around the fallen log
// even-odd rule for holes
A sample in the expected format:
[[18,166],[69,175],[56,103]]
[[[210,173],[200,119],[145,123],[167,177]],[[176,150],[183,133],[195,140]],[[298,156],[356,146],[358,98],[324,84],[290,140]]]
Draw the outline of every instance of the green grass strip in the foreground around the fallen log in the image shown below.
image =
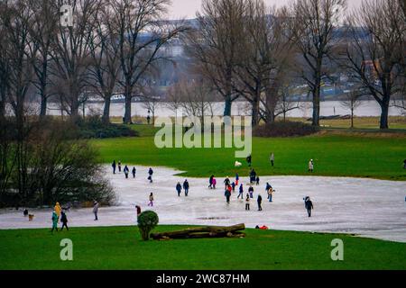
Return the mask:
[[[156,231],[180,229],[159,226]],[[406,269],[406,244],[348,235],[246,229],[245,238],[142,241],[136,227],[0,230],[5,269]],[[73,242],[73,261],[60,260],[60,240]],[[332,261],[331,241],[344,241]]]

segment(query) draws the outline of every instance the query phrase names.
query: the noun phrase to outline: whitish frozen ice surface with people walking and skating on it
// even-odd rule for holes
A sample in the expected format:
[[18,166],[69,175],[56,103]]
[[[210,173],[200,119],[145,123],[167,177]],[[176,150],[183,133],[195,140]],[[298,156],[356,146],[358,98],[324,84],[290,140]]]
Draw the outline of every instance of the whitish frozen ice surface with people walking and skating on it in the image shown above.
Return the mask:
[[[181,196],[175,185],[185,177],[180,171],[167,167],[153,167],[153,183],[147,180],[149,167],[136,166],[133,179],[123,173],[113,175],[106,167],[106,175],[119,196],[114,207],[102,207],[98,221],[92,209],[71,209],[67,215],[69,226],[126,226],[136,225],[135,204],[142,210],[156,211],[160,224],[234,225],[245,223],[248,228],[266,225],[270,229],[314,232],[343,232],[361,237],[406,242],[406,183],[373,179],[318,177],[318,176],[261,176],[261,184],[254,186],[251,211],[245,211],[245,201],[237,200],[237,189],[231,203],[226,204],[223,180],[216,175],[217,189],[208,189],[208,179],[188,178],[189,196]],[[132,166],[130,167],[130,171]],[[230,179],[233,175],[230,173]],[[240,177],[245,184],[247,177]],[[265,184],[272,184],[276,192],[273,202],[267,201]],[[148,196],[154,194],[153,207],[148,207]],[[256,197],[263,196],[263,211],[257,211]],[[307,217],[303,197],[309,195],[314,211]],[[34,220],[23,217],[23,210],[0,210],[0,229],[51,228],[52,209],[30,210]]]

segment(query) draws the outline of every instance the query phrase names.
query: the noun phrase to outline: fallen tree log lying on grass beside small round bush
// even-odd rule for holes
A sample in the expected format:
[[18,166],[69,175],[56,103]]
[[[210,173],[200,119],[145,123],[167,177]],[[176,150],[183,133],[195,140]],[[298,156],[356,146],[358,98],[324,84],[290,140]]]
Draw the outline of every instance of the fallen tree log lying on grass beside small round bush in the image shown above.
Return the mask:
[[[244,233],[238,232],[244,230],[245,224],[237,224],[230,227],[221,226],[205,226],[193,227],[170,232],[152,233],[151,238],[222,238],[222,237],[239,237],[235,235],[245,236]],[[243,236],[244,234],[244,236]]]

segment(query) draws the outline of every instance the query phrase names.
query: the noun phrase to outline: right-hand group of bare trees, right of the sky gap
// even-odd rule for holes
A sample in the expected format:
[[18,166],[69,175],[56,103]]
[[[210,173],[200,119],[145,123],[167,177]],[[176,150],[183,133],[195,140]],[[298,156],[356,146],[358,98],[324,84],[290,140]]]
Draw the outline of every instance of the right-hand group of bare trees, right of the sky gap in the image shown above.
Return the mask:
[[387,129],[391,99],[404,97],[405,19],[403,0],[367,0],[349,13],[346,0],[297,0],[278,9],[263,0],[204,0],[185,43],[193,71],[224,98],[225,115],[243,96],[254,125],[272,122],[286,86],[300,78],[318,126],[323,79],[339,71],[357,94],[380,104]]

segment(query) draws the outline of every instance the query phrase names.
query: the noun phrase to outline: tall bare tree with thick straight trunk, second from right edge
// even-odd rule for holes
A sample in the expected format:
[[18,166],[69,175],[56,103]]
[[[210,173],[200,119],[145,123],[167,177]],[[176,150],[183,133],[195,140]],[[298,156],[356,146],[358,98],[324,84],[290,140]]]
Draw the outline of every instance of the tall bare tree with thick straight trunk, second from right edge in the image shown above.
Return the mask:
[[307,82],[313,98],[312,125],[319,125],[322,77],[325,61],[331,57],[334,31],[346,9],[346,0],[297,0],[292,17],[297,25],[297,44],[302,58],[300,76]]

